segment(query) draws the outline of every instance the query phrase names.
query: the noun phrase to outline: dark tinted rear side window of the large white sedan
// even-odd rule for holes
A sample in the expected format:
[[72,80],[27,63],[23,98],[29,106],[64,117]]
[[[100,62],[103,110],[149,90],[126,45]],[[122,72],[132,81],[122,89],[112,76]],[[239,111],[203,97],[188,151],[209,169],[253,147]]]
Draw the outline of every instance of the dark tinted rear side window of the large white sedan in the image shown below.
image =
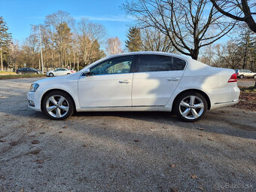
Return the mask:
[[186,62],[172,56],[141,55],[138,72],[165,72],[184,70]]

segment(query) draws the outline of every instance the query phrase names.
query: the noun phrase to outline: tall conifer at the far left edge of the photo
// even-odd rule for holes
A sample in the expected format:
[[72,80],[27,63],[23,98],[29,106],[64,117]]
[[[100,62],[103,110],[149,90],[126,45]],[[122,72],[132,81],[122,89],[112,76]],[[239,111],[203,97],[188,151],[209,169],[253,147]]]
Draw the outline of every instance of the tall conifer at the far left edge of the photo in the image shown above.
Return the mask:
[[3,65],[3,54],[8,53],[8,45],[11,42],[11,33],[8,32],[8,26],[3,19],[0,17],[0,57],[1,57],[1,70],[4,70]]

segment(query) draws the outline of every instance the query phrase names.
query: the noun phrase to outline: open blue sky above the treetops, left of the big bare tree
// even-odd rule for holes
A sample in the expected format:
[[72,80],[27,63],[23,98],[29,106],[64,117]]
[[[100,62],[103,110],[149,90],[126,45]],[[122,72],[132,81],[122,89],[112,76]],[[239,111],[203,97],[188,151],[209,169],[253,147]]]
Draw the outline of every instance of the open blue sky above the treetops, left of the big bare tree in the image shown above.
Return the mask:
[[125,0],[0,0],[0,16],[20,43],[30,35],[30,24],[43,24],[48,14],[60,10],[69,12],[76,22],[85,17],[102,24],[107,29],[107,38],[117,36],[124,44],[133,20],[120,10],[123,2]]

